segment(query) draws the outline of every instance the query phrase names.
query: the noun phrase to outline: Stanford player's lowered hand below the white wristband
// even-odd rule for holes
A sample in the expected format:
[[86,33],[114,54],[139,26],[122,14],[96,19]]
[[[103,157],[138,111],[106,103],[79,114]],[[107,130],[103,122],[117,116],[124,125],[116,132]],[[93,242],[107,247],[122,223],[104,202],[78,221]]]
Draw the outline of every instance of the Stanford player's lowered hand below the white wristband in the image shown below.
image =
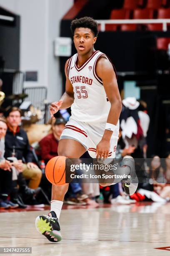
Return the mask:
[[110,141],[102,139],[96,147],[96,158],[107,158],[110,150]]

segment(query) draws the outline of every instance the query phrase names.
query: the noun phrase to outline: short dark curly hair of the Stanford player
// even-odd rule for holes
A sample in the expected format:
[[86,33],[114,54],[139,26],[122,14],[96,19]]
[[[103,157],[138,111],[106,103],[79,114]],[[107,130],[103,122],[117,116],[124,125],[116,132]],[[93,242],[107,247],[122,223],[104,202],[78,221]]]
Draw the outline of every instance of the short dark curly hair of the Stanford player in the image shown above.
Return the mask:
[[80,19],[72,20],[71,22],[71,31],[74,35],[76,28],[90,28],[94,36],[98,36],[97,21],[93,20],[91,17],[83,17]]

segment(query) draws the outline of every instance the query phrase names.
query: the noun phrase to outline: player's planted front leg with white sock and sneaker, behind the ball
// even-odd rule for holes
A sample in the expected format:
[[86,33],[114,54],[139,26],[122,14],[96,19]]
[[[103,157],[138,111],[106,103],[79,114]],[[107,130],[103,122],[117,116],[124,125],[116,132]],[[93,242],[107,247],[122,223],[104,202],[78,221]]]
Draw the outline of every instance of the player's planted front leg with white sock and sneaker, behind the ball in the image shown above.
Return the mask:
[[[58,146],[58,155],[67,158],[80,158],[86,148],[74,139],[61,139]],[[51,210],[48,215],[40,215],[35,220],[37,230],[50,242],[58,242],[62,239],[60,233],[60,212],[67,192],[68,184],[63,186],[52,185]]]

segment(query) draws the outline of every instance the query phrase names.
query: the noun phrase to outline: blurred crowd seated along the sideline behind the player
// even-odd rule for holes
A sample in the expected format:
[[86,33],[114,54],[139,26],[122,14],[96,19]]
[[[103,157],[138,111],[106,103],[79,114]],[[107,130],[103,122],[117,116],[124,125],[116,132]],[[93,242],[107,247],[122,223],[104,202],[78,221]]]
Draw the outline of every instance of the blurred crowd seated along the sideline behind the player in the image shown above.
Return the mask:
[[[65,203],[88,205],[104,203],[130,204],[139,201],[167,202],[170,200],[170,152],[164,159],[154,156],[148,161],[147,132],[150,118],[146,103],[129,97],[122,101],[120,134],[116,159],[131,155],[143,159],[143,168],[136,161],[140,177],[137,192],[125,195],[122,183],[108,187],[99,184],[70,183]],[[30,146],[22,128],[21,110],[13,107],[0,118],[0,209],[26,208],[28,205],[50,204],[51,184],[45,177],[45,165],[54,156],[66,120],[62,116],[51,121],[51,131]],[[85,153],[82,158],[90,158]]]

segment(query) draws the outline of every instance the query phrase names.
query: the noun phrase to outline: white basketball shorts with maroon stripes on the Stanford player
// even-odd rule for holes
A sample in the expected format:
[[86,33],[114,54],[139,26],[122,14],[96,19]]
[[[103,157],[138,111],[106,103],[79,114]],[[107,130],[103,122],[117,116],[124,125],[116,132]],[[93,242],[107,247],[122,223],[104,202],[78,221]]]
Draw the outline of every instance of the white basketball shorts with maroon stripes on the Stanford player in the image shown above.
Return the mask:
[[[79,141],[86,148],[92,158],[96,158],[96,146],[101,141],[106,123],[87,123],[74,120],[70,117],[60,136],[60,139],[70,138]],[[119,122],[117,129],[110,139],[108,158],[115,158],[117,140],[119,135]]]

